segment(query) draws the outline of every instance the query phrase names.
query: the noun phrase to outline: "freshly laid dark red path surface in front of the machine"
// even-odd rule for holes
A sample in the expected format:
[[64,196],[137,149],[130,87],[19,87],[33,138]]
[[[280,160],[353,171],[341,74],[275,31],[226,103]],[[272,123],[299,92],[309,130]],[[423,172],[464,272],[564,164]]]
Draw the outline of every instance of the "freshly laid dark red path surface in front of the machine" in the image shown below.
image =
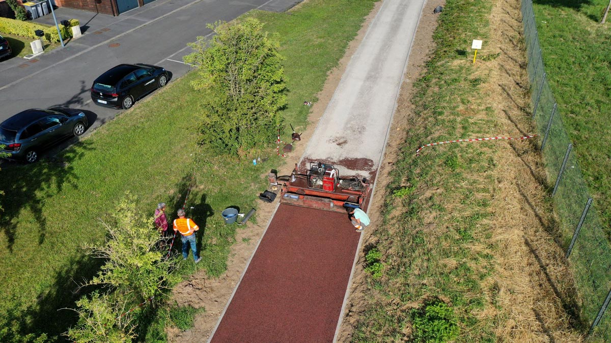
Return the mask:
[[280,204],[212,342],[331,342],[360,234],[348,214]]

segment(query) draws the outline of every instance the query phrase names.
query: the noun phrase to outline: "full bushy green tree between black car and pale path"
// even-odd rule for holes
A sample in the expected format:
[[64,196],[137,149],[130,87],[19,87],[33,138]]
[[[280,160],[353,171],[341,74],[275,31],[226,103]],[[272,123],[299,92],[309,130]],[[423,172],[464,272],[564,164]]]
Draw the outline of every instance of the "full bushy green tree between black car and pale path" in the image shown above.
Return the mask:
[[201,140],[216,153],[243,155],[273,142],[286,106],[283,58],[277,39],[249,18],[229,25],[208,24],[216,35],[190,43],[185,62],[199,67],[192,82],[204,94]]

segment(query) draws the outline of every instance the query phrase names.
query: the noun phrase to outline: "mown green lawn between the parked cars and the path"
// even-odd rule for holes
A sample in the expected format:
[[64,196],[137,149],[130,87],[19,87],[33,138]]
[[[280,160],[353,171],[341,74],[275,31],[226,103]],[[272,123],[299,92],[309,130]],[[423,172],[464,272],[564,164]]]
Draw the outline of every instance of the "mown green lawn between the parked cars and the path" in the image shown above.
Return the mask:
[[[287,58],[287,123],[305,125],[310,107],[303,101],[316,100],[327,72],[372,8],[370,0],[316,0],[290,13],[249,13],[266,23],[266,31],[279,34]],[[83,247],[104,241],[101,220],[109,220],[126,191],[151,215],[156,203],[166,202],[174,218],[191,186],[187,214],[202,228],[203,261],[197,267],[188,261],[181,272],[224,272],[236,226],[225,226],[220,211],[256,208],[265,175],[284,161],[273,139],[267,156],[251,156],[266,160],[256,166],[252,158],[203,159],[205,147],[196,144],[201,95],[189,85],[195,77],[172,80],[54,159],[3,166],[0,322],[12,322],[21,334],[66,331],[74,314],[57,310],[74,306],[88,291],[78,292],[76,283],[88,280],[99,265],[84,257]]]

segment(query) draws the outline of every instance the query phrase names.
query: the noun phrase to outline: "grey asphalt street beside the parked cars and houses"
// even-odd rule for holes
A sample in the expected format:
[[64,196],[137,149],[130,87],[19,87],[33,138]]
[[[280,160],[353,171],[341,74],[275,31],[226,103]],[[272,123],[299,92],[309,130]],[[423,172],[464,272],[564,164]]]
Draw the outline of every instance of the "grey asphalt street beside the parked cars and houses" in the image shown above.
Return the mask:
[[[156,0],[120,16],[57,9],[57,21],[78,19],[83,36],[32,60],[0,62],[0,121],[32,107],[67,106],[93,112],[95,128],[122,112],[91,102],[89,89],[104,71],[119,63],[150,63],[176,79],[189,70],[181,62],[191,52],[187,43],[211,34],[207,23],[230,21],[252,9],[283,12],[299,2]],[[36,21],[54,24],[50,14]]]

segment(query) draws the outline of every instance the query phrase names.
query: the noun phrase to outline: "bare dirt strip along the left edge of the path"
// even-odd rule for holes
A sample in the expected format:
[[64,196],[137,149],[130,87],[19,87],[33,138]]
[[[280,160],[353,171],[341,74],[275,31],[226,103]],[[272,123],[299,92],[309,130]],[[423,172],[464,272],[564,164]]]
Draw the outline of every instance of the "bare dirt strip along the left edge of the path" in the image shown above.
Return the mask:
[[[318,123],[324,114],[324,110],[327,108],[329,101],[331,101],[331,97],[342,79],[342,74],[346,70],[350,58],[354,52],[356,52],[360,42],[365,37],[367,27],[376,13],[378,13],[381,5],[381,1],[376,2],[371,13],[365,18],[365,22],[356,37],[349,43],[344,57],[338,63],[338,67],[329,71],[323,90],[317,95],[318,101],[313,103],[310,109],[308,119],[309,125],[303,132],[302,128],[295,128],[300,132],[301,140],[293,144],[293,151],[287,154],[286,161],[288,163],[278,168],[278,175],[290,175],[291,170],[295,167],[294,163],[299,161],[299,158],[303,156],[309,137],[312,137],[316,128],[316,123]],[[262,178],[265,177],[266,175],[262,175]],[[205,271],[200,270],[196,274],[191,275],[189,280],[183,281],[175,287],[172,294],[172,302],[176,301],[179,306],[189,305],[194,308],[205,308],[206,311],[196,317],[195,325],[192,330],[180,331],[170,328],[168,330],[168,341],[205,342],[208,340],[214,327],[216,327],[216,323],[221,317],[225,305],[227,305],[229,297],[232,295],[236,284],[240,280],[240,276],[246,268],[247,262],[251,259],[257,242],[261,239],[270,218],[273,217],[276,211],[276,205],[277,203],[260,203],[257,209],[258,224],[254,225],[249,223],[243,229],[238,230],[236,234],[236,243],[232,246],[229,261],[227,261],[227,272],[219,278],[209,278]]]

